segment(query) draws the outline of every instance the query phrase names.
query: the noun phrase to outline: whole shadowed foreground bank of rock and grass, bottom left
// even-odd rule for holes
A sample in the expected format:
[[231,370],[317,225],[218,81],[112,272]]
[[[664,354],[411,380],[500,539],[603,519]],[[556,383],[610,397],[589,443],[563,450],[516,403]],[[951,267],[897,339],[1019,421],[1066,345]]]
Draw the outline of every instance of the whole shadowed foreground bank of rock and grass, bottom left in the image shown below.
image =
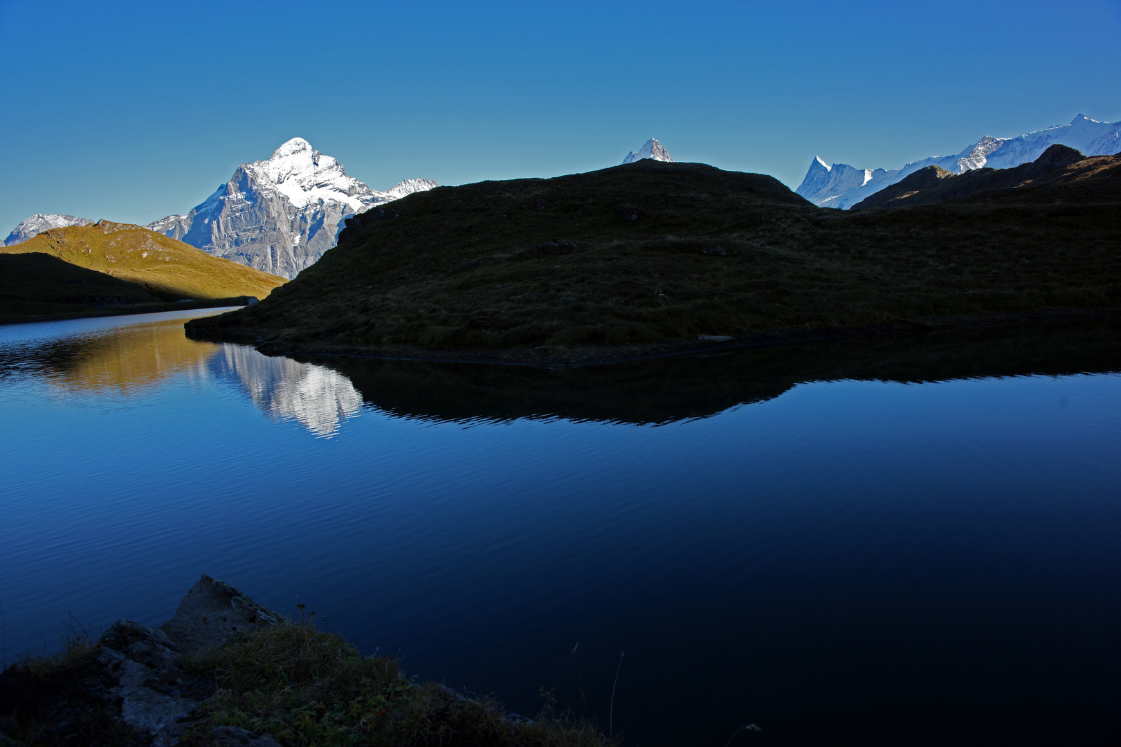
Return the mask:
[[417,682],[308,619],[282,619],[202,577],[152,628],[114,623],[0,674],[0,747],[610,747],[552,706],[536,719]]

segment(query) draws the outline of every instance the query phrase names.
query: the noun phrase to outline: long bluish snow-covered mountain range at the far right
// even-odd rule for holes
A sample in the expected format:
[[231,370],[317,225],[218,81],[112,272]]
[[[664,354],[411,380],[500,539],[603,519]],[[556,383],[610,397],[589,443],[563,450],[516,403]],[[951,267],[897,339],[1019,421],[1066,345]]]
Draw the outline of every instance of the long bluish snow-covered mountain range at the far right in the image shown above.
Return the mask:
[[858,169],[847,164],[830,165],[815,157],[795,192],[819,207],[847,209],[927,166],[939,166],[952,174],[980,168],[1008,169],[1036,160],[1055,143],[1074,148],[1084,156],[1112,156],[1121,151],[1121,122],[1099,122],[1078,114],[1069,124],[1016,138],[985,136],[960,153],[924,158],[899,169]]

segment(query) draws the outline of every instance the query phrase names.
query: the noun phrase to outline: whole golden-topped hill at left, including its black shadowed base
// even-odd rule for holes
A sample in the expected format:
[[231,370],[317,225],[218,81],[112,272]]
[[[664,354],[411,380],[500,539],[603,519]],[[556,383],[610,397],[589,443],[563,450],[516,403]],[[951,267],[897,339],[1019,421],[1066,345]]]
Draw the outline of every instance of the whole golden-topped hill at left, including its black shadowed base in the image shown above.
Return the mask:
[[0,321],[158,310],[185,299],[243,304],[239,297],[262,298],[284,282],[147,228],[100,221],[0,248]]

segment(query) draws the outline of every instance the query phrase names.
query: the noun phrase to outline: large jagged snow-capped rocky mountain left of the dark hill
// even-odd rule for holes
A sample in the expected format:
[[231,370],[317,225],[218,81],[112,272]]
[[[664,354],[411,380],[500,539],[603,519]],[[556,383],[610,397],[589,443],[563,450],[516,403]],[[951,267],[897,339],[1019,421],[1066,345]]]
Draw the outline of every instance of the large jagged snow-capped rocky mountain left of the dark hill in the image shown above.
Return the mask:
[[257,270],[295,278],[335,245],[346,218],[436,186],[429,179],[406,179],[387,192],[371,189],[307,140],[293,138],[268,160],[239,166],[186,215],[168,215],[147,227]]

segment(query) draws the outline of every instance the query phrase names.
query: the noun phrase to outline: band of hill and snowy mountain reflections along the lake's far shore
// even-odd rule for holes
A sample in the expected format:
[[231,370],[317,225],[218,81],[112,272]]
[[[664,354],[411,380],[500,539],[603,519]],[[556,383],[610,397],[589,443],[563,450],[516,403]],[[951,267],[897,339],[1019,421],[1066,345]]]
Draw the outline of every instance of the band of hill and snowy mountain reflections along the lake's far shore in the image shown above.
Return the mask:
[[266,356],[244,345],[188,339],[183,321],[197,312],[150,316],[156,318],[61,327],[55,323],[55,334],[24,342],[18,334],[0,335],[0,379],[28,370],[65,392],[128,398],[182,373],[189,381],[231,382],[270,417],[330,438],[361,412],[363,403],[389,415],[430,421],[528,418],[664,424],[770,400],[813,381],[912,383],[1121,371],[1121,324],[1115,321],[543,368],[368,358],[297,361]]

